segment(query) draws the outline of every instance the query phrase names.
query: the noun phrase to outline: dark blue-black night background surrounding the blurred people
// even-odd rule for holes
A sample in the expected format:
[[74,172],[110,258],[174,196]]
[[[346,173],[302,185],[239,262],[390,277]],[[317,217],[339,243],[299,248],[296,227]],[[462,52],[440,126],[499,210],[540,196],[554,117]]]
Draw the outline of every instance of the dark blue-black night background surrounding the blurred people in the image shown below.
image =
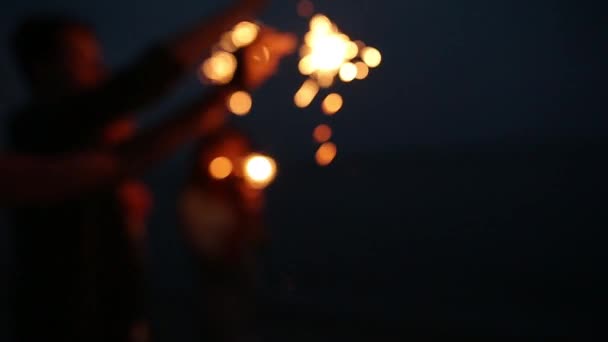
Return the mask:
[[[119,66],[226,3],[3,3],[0,110],[26,99],[8,36],[32,11],[88,20]],[[318,103],[293,106],[302,82],[294,57],[238,120],[280,166],[269,190],[273,240],[264,258],[268,336],[599,331],[608,223],[602,2],[315,5],[384,59],[365,81],[334,88],[345,106],[328,120]],[[295,7],[275,0],[263,20],[302,35],[306,20]],[[200,92],[193,77],[145,121]],[[339,148],[328,168],[313,160],[311,131],[321,122],[332,124]],[[150,276],[159,340],[194,339],[188,310],[196,284],[173,215],[187,152],[148,175],[157,195]],[[10,231],[1,231],[9,274]]]

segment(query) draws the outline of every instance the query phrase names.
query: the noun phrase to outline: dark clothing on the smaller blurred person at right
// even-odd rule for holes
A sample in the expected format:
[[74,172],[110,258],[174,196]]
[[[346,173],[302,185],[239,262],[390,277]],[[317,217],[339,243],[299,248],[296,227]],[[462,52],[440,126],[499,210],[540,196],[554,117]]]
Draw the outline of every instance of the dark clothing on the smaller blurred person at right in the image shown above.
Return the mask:
[[204,341],[256,338],[261,212],[248,210],[236,185],[189,184],[181,199],[185,235],[199,265],[194,297]]

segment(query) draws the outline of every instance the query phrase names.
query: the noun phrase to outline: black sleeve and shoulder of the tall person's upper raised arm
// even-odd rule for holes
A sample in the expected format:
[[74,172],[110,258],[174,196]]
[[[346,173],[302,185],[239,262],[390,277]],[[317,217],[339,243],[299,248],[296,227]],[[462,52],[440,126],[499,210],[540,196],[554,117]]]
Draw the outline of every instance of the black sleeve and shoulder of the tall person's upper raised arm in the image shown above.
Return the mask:
[[10,123],[14,147],[43,155],[90,148],[99,143],[105,125],[157,100],[182,73],[167,51],[152,49],[98,88],[18,112]]

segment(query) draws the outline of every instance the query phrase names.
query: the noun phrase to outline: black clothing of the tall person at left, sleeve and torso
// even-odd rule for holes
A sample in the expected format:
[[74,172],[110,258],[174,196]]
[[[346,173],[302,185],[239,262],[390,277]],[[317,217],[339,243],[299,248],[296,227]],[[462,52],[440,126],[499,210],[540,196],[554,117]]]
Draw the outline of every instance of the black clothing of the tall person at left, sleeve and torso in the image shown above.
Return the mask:
[[[103,144],[103,129],[158,99],[182,75],[153,49],[99,88],[14,117],[16,152],[57,156]],[[127,239],[116,189],[15,210],[19,341],[125,341],[141,314],[138,262]]]

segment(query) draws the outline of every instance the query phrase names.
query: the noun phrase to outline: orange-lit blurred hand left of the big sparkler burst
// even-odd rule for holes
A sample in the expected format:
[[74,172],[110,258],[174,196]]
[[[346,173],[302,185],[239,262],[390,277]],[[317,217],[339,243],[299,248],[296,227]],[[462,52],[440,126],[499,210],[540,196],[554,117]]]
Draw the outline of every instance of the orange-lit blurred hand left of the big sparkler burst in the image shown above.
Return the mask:
[[295,51],[296,43],[297,38],[291,33],[262,27],[255,42],[243,50],[244,86],[257,88],[274,75],[281,59]]

